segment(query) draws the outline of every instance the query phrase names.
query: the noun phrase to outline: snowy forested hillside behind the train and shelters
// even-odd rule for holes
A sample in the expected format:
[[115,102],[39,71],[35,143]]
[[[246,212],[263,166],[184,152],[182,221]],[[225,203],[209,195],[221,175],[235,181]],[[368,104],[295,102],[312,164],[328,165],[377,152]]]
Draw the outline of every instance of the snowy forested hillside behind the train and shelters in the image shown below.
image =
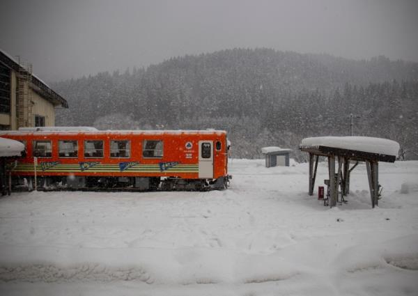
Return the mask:
[[223,129],[234,157],[253,158],[262,146],[296,149],[303,137],[349,135],[354,114],[354,134],[397,140],[404,157],[418,156],[418,63],[384,56],[231,49],[52,87],[70,105],[57,125]]

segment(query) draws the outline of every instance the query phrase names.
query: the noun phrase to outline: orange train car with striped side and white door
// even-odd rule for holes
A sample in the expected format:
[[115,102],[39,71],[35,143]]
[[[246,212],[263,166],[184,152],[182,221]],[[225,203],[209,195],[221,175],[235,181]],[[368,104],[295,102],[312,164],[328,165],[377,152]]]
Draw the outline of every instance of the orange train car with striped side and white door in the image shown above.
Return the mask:
[[33,127],[0,132],[0,137],[26,147],[11,169],[15,184],[34,182],[36,175],[41,187],[221,189],[231,179],[229,142],[222,130]]

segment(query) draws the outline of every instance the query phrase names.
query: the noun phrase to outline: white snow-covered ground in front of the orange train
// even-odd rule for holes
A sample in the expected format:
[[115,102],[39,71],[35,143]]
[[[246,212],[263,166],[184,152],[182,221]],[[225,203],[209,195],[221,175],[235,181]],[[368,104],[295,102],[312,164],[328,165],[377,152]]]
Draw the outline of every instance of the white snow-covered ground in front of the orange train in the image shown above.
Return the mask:
[[379,169],[374,209],[364,165],[330,209],[326,163],[309,196],[307,164],[263,160],[233,159],[224,191],[15,193],[0,295],[418,295],[418,162]]

